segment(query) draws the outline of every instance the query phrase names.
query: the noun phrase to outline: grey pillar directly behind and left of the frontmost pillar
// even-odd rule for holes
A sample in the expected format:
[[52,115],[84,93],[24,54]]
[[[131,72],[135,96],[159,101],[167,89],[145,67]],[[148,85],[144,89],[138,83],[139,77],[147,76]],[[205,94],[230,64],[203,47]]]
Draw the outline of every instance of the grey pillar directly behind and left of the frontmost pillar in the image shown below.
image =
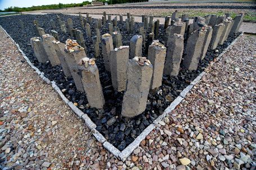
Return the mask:
[[110,53],[111,79],[115,91],[122,92],[126,89],[128,60],[129,46],[120,46]]

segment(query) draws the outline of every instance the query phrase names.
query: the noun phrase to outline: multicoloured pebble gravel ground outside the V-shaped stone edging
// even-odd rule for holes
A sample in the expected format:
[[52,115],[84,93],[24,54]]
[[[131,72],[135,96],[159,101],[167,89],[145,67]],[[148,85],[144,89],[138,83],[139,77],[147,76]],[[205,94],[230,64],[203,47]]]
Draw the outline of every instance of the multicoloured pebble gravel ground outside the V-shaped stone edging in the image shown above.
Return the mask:
[[0,169],[255,167],[255,42],[256,36],[240,37],[122,162],[91,137],[0,30]]

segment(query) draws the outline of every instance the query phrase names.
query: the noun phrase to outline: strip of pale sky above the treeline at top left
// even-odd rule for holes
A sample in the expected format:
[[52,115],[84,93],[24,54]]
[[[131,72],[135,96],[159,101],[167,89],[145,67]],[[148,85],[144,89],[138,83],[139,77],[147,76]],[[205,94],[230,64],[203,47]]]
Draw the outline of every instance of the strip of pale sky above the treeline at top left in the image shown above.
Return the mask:
[[[58,3],[81,3],[86,0],[0,0],[0,10],[8,7],[31,7],[40,6],[43,4],[58,4]],[[87,0],[88,1],[88,0]],[[89,0],[92,1],[92,0]]]

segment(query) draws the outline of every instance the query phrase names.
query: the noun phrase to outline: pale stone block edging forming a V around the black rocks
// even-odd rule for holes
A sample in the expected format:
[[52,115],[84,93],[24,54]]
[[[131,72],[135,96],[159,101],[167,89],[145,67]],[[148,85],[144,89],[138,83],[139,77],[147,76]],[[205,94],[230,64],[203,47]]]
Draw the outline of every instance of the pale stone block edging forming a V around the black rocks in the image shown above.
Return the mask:
[[[1,29],[10,37],[10,39],[12,40],[13,43],[15,43],[15,41],[12,39],[12,37],[6,32],[6,30],[3,29],[3,27],[0,25]],[[239,36],[236,37],[236,39],[234,41],[232,41],[232,43],[230,45],[227,46],[226,49],[224,49],[222,51],[222,53],[220,55],[217,56],[216,61],[219,60],[221,58],[221,56],[223,54],[225,54],[227,52],[228,49],[231,48],[232,45],[234,45],[237,41],[237,39],[239,39],[240,36],[242,36],[244,34],[244,32],[242,32]],[[145,137],[154,129],[156,128],[156,124],[158,124],[159,121],[161,121],[164,117],[166,117],[168,114],[171,113],[172,110],[175,109],[175,107],[177,105],[179,105],[179,103],[186,97],[186,94],[190,91],[190,89],[193,88],[193,86],[198,83],[200,81],[200,79],[203,77],[203,75],[206,72],[202,72],[198,75],[198,77],[196,77],[194,79],[193,82],[190,83],[189,86],[187,86],[185,89],[183,89],[183,91],[180,93],[180,95],[175,98],[175,100],[171,103],[170,106],[168,106],[166,108],[166,110],[164,110],[162,115],[159,115],[157,117],[156,120],[153,121],[152,124],[150,124],[146,129],[144,129],[142,131],[142,133],[134,140],[132,141],[131,144],[129,144],[124,150],[122,150],[122,152],[120,152],[120,150],[118,150],[116,147],[114,147],[111,143],[109,143],[106,138],[104,138],[104,136],[102,134],[99,133],[98,130],[96,130],[95,128],[97,127],[94,122],[92,120],[90,120],[89,116],[87,114],[84,114],[84,112],[82,112],[78,107],[76,107],[71,101],[69,101],[62,93],[61,89],[56,85],[56,83],[54,81],[49,81],[48,78],[44,77],[44,73],[40,72],[40,70],[36,67],[34,67],[34,65],[30,62],[30,60],[28,59],[28,57],[24,54],[24,52],[20,49],[19,44],[15,43],[15,45],[17,46],[17,49],[21,52],[23,58],[26,60],[26,62],[31,66],[31,68],[33,68],[35,70],[36,73],[38,73],[38,75],[48,84],[52,84],[53,89],[60,95],[60,97],[62,98],[62,100],[71,108],[72,111],[75,112],[75,114],[80,117],[80,119],[83,119],[85,121],[86,126],[88,126],[88,128],[91,130],[92,134],[95,136],[95,138],[100,142],[103,143],[103,147],[106,148],[109,152],[111,152],[113,155],[115,155],[118,159],[121,159],[122,161],[125,161],[127,159],[127,157],[129,157],[129,155],[133,152],[134,149],[136,149],[140,142],[142,140],[145,139]],[[214,62],[211,63],[211,65]]]

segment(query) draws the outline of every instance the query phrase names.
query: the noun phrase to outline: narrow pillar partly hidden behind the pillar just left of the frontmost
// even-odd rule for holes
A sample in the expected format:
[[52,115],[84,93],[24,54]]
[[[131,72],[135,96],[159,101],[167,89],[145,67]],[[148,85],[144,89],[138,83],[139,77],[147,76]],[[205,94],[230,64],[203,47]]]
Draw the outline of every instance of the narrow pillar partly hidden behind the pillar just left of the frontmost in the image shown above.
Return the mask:
[[105,69],[110,72],[110,51],[113,50],[113,39],[110,34],[102,35],[102,55]]

